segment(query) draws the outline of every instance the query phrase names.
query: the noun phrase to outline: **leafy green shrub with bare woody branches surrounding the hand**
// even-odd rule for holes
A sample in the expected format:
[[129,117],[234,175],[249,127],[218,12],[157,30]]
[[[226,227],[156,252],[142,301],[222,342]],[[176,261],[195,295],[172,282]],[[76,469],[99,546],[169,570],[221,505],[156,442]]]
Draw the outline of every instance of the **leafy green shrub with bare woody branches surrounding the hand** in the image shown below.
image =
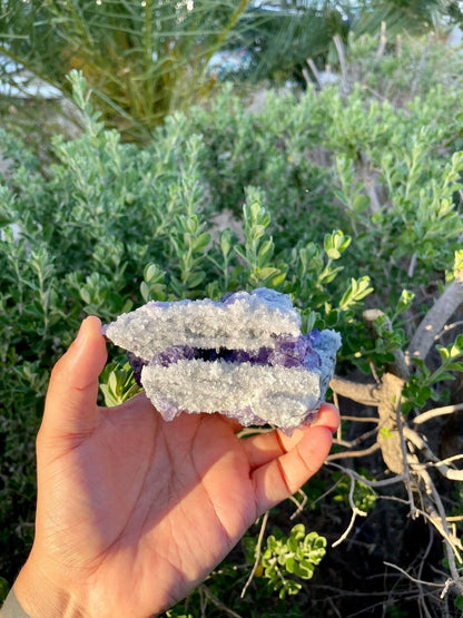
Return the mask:
[[[221,85],[164,111],[138,145],[137,122],[114,117],[124,139],[108,128],[98,84],[77,71],[73,139],[60,131],[45,157],[8,118],[0,595],[32,540],[35,435],[80,320],[267,285],[292,295],[306,328],[341,332],[342,428],[317,478],[166,616],[460,614],[462,60],[436,36],[346,37],[331,43],[334,84],[315,58],[304,91],[267,89],[257,107]],[[101,400],[115,404],[134,384],[110,352]]]

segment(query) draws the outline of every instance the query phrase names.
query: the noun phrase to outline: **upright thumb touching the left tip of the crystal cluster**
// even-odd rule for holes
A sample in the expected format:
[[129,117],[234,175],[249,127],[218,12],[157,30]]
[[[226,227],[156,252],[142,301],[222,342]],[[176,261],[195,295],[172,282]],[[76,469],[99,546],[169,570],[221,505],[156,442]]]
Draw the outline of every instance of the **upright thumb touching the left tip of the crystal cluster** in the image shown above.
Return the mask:
[[82,440],[97,422],[98,376],[107,359],[101,322],[87,317],[77,339],[55,365],[40,433]]

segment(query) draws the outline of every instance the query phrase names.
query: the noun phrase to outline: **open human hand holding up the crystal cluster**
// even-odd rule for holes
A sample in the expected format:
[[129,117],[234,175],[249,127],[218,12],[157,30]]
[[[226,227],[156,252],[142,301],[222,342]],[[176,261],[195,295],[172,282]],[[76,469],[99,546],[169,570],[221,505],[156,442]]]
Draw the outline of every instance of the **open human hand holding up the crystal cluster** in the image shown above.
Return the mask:
[[165,422],[145,394],[98,408],[106,359],[89,317],[51,374],[36,539],[14,585],[32,617],[141,618],[173,606],[319,469],[338,425],[325,404],[290,439],[238,439],[219,414]]

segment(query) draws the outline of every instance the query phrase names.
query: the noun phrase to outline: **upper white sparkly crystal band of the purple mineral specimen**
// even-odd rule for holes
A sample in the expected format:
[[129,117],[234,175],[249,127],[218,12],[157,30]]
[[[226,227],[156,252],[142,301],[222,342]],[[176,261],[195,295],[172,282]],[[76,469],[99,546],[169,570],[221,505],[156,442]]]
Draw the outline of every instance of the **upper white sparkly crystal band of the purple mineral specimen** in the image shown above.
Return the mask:
[[260,290],[265,293],[237,292],[219,303],[151,301],[120,315],[107,326],[106,336],[144,361],[171,345],[258,350],[272,346],[279,333],[297,336],[301,316],[289,296]]

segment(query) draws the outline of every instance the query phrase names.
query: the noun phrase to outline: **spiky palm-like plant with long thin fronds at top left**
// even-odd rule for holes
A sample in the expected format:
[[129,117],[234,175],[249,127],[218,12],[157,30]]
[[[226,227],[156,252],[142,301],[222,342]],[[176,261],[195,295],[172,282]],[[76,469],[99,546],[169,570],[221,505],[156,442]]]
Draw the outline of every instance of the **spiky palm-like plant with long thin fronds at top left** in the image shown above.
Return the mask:
[[31,0],[26,7],[7,0],[0,51],[68,95],[66,76],[80,70],[106,122],[146,140],[168,112],[209,91],[208,59],[246,7],[246,0]]

